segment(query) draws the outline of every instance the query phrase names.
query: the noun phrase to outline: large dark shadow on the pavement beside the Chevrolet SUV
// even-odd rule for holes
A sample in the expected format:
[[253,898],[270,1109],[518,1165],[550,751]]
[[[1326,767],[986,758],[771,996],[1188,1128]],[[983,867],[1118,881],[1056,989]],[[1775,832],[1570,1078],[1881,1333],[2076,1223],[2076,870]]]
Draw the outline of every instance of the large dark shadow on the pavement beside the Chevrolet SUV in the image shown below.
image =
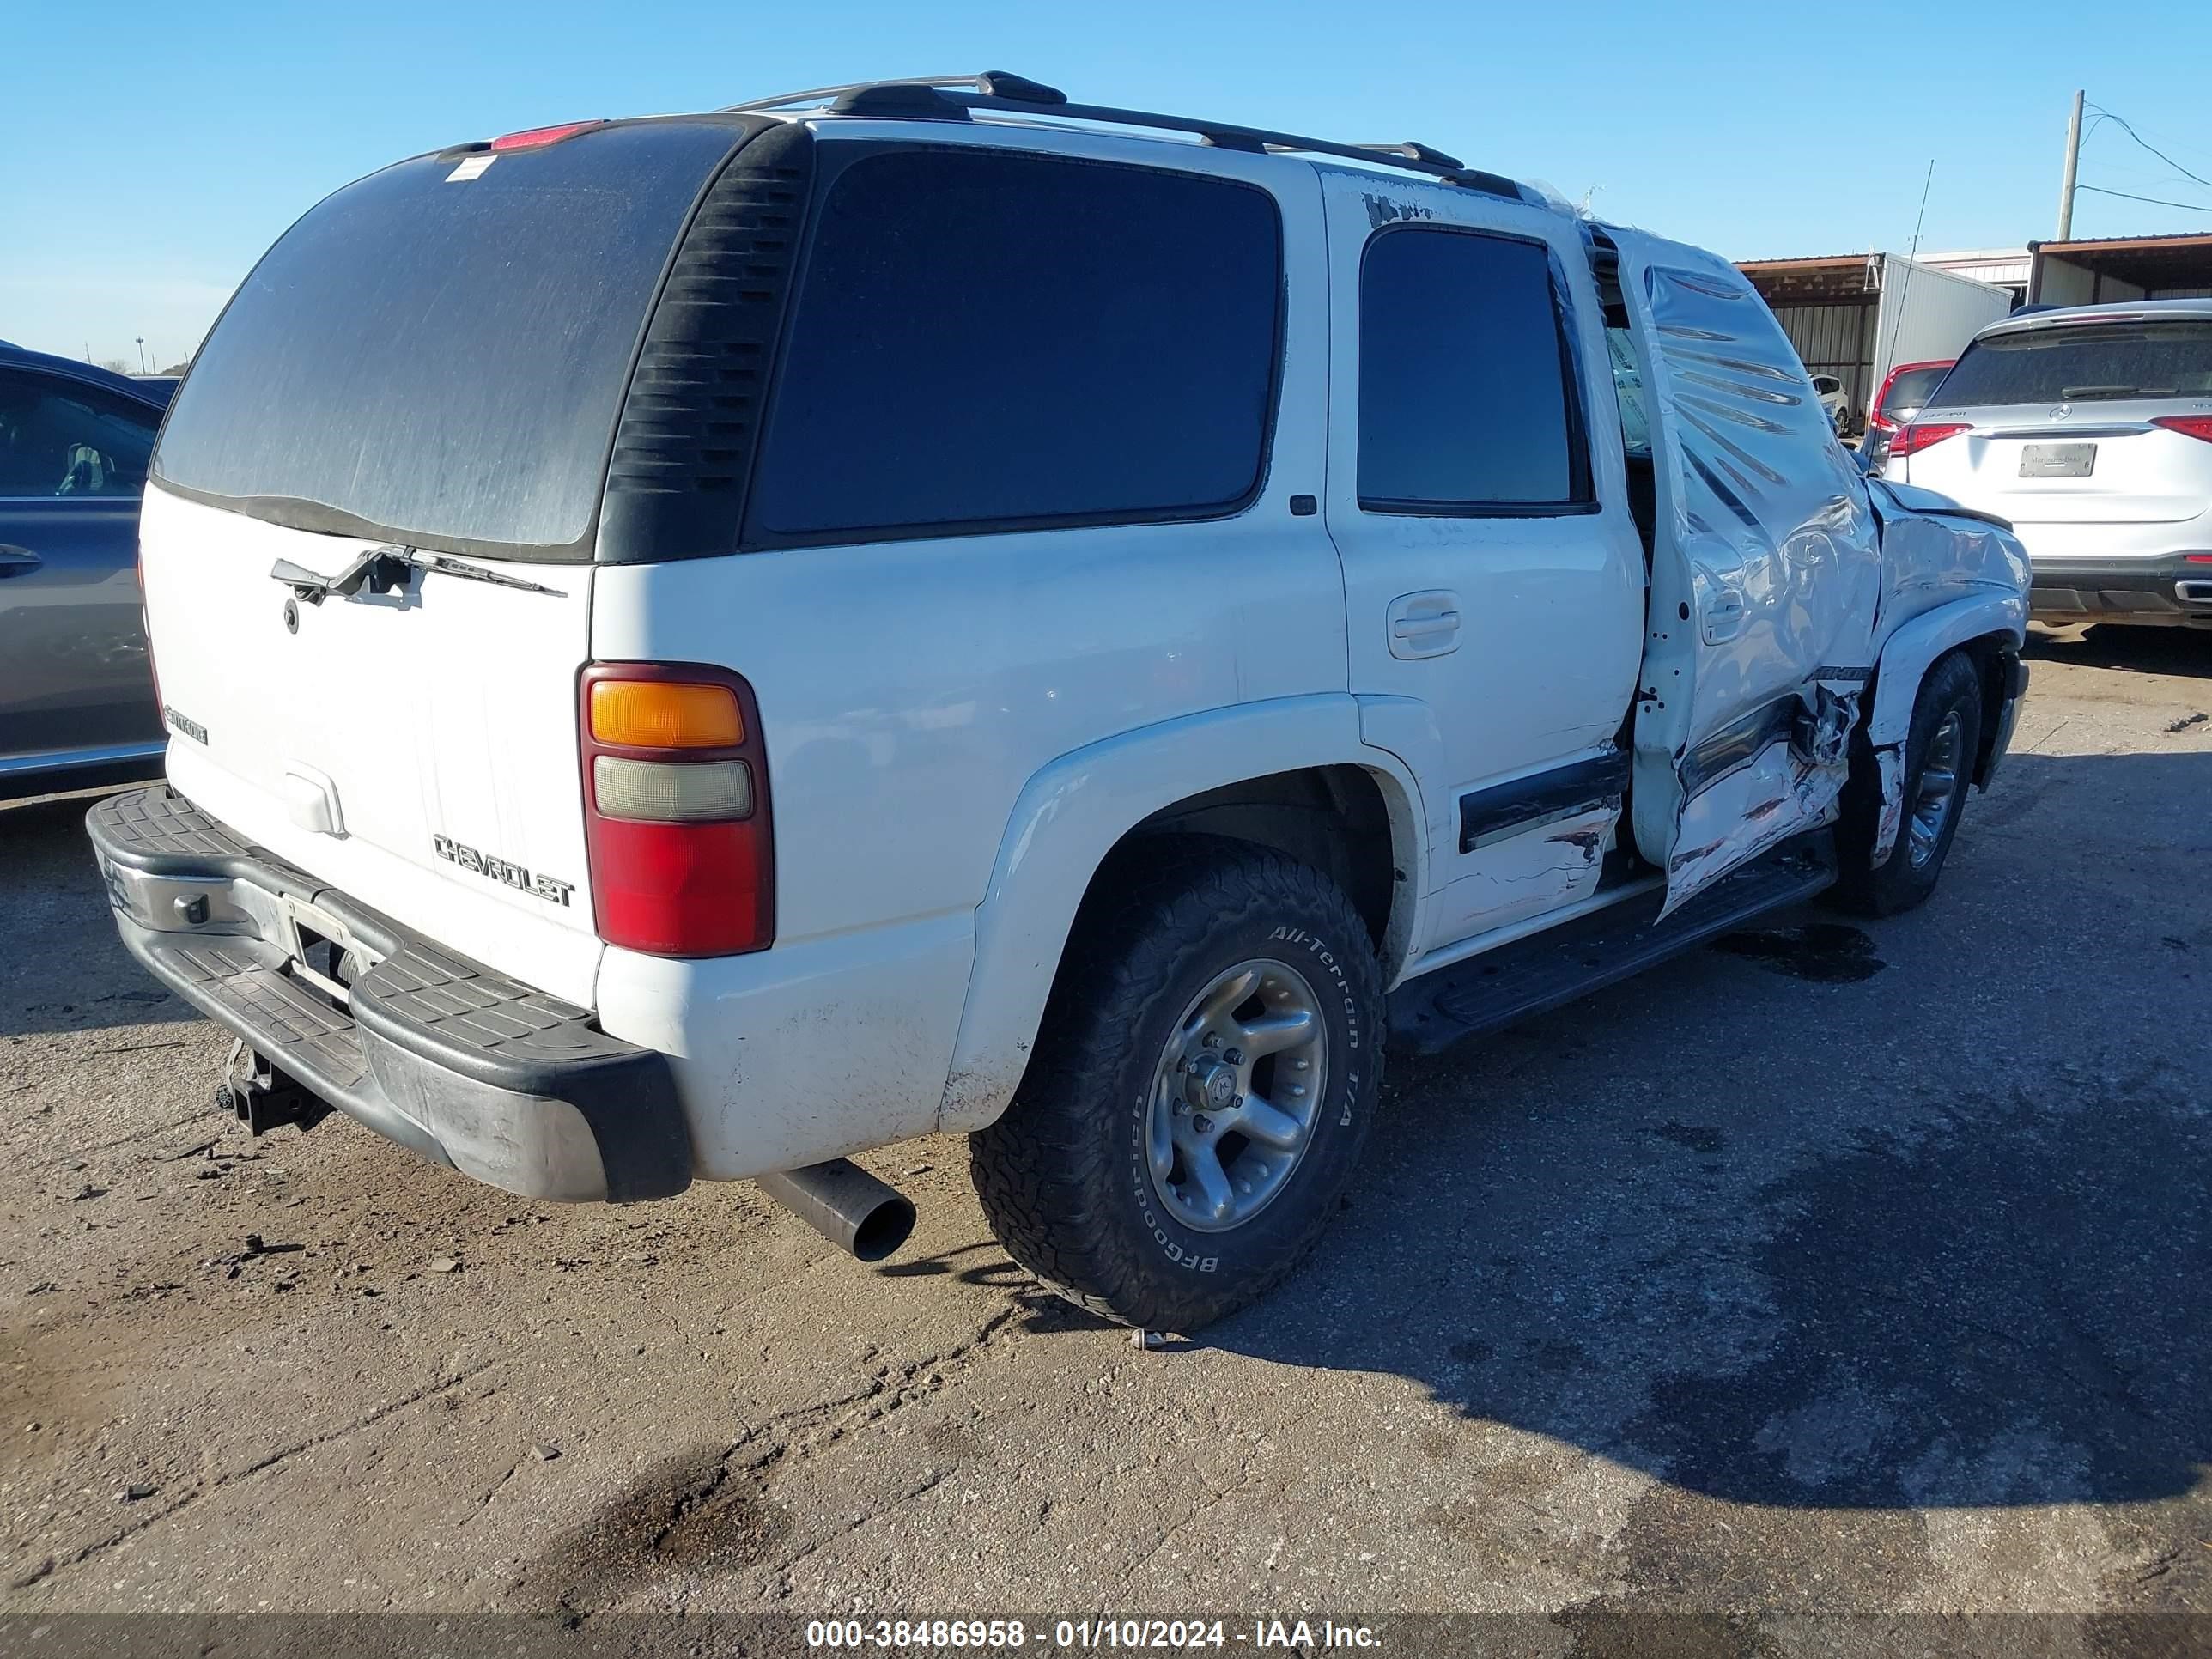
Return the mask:
[[[2101,845],[2115,827],[2146,849],[2212,838],[2212,754],[2008,768],[2000,796],[2079,821],[2090,887],[2132,880],[2130,849]],[[2090,794],[2095,823],[2075,805]],[[2000,845],[2033,843],[1991,832],[1982,872],[1869,925],[1867,949],[1801,911],[1723,947],[1734,964],[1692,953],[1400,1066],[1354,1214],[1201,1343],[1407,1376],[1469,1418],[1741,1504],[2192,1491],[2212,1464],[2212,1093],[2177,1011],[2212,927],[2203,905],[2139,905],[2143,945],[2068,942],[2110,911],[2066,891],[2048,914],[1997,909],[2020,894],[1991,874]],[[2068,938],[2037,956],[2028,922]],[[1854,971],[1745,980],[1805,936]],[[1858,971],[1882,967],[1871,949],[1893,958],[1878,975]],[[2011,995],[1980,995],[1993,971]],[[2104,1057],[2013,1066],[2046,1022],[2081,1022]],[[1710,1077],[1705,1099],[1652,1075],[1670,1055]]]

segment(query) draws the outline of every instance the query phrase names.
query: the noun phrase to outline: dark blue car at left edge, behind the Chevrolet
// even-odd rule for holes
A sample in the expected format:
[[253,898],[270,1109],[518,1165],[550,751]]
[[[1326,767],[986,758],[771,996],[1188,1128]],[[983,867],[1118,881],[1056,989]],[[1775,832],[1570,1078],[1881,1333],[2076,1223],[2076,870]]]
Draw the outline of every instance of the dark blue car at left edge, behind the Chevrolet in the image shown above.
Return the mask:
[[175,387],[0,343],[0,801],[161,774],[137,509]]

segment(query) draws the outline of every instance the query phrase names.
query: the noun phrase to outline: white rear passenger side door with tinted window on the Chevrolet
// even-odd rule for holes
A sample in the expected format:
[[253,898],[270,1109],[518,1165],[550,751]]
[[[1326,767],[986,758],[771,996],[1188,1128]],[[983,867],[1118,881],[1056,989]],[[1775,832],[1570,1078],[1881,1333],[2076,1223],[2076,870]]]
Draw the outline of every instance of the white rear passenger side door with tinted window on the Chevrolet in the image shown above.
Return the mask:
[[1323,168],[1327,526],[1369,743],[1429,812],[1422,949],[1597,891],[1644,549],[1571,219]]

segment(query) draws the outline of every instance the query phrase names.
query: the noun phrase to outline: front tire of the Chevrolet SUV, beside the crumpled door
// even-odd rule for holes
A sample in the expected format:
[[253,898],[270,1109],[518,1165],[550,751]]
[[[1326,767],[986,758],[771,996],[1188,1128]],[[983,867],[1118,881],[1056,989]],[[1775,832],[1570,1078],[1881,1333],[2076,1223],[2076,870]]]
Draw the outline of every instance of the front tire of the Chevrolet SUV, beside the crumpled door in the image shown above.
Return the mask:
[[1982,743],[1982,681],[1973,661],[1951,653],[1920,684],[1905,737],[1905,807],[1898,841],[1876,869],[1880,787],[1854,768],[1836,821],[1838,878],[1829,898],[1854,916],[1896,916],[1924,905],[1951,856]]

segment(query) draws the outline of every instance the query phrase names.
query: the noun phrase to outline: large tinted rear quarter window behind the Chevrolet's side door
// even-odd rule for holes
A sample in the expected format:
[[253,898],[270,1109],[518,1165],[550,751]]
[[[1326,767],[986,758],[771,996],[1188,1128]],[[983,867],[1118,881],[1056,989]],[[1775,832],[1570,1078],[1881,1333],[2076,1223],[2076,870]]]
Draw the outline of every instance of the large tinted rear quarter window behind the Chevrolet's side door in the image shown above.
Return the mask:
[[867,155],[821,208],[748,540],[1234,511],[1265,471],[1281,285],[1252,186]]

